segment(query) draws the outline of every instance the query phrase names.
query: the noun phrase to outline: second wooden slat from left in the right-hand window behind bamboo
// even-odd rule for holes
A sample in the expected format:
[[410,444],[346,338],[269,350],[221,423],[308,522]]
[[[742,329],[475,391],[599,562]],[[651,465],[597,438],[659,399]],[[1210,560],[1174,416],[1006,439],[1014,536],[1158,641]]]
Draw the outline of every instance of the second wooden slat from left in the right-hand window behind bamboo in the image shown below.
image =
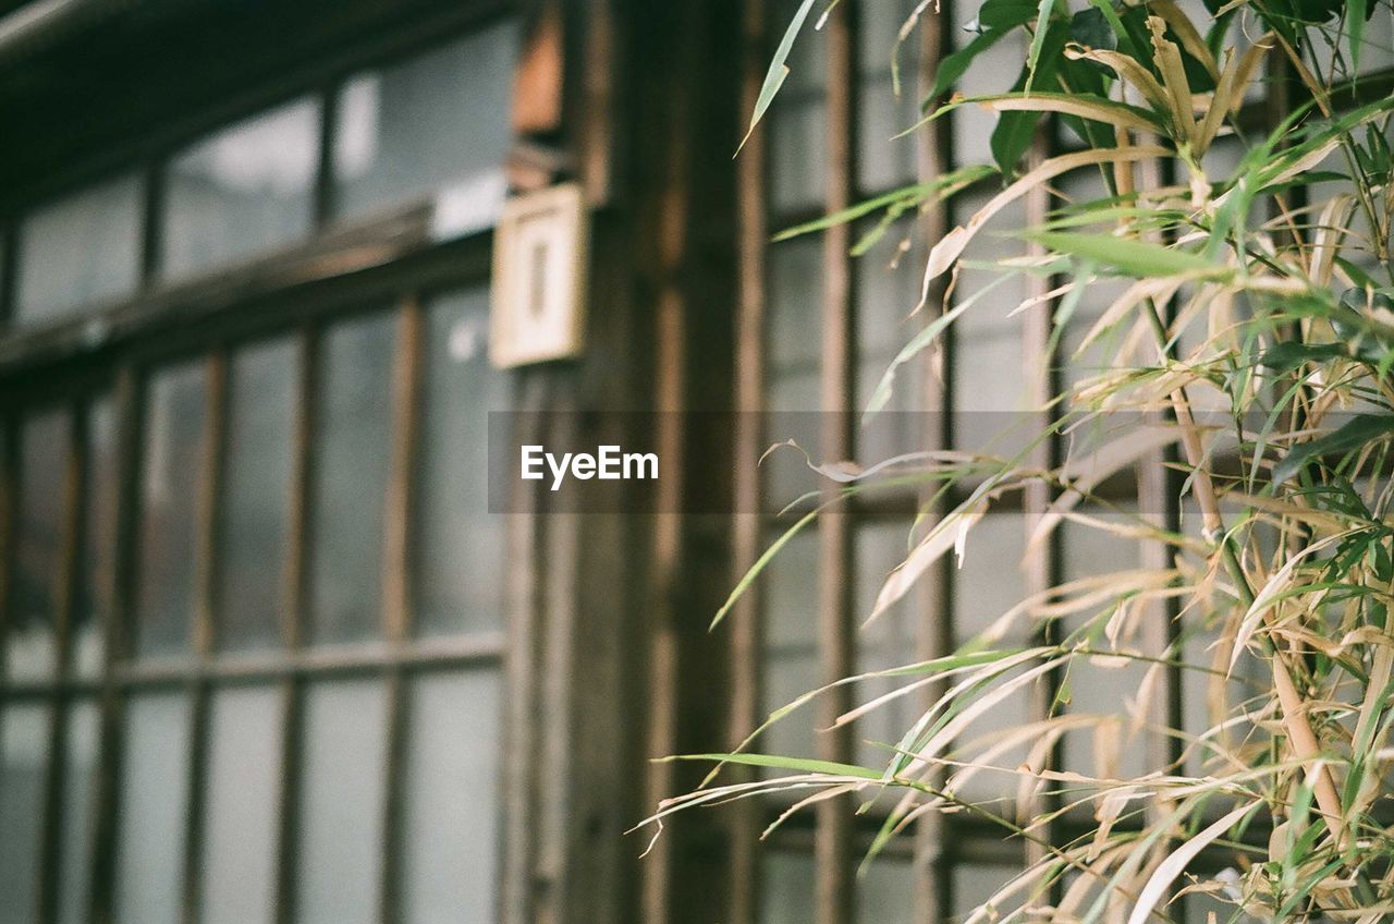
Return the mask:
[[[832,214],[848,208],[855,195],[855,81],[856,38],[853,4],[834,7],[827,24],[827,113],[828,174],[824,208]],[[822,239],[822,357],[821,402],[824,459],[852,458],[853,448],[853,357],[856,356],[852,315],[852,229],[829,228]],[[818,648],[822,683],[848,677],[856,666],[853,632],[852,522],[839,512],[825,514],[818,523]],[[836,717],[852,706],[852,688],[839,687],[818,699],[818,755],[827,761],[850,761],[850,726],[835,727]],[[852,814],[845,801],[822,801],[817,807],[814,837],[817,868],[817,924],[849,924],[855,907]]]

